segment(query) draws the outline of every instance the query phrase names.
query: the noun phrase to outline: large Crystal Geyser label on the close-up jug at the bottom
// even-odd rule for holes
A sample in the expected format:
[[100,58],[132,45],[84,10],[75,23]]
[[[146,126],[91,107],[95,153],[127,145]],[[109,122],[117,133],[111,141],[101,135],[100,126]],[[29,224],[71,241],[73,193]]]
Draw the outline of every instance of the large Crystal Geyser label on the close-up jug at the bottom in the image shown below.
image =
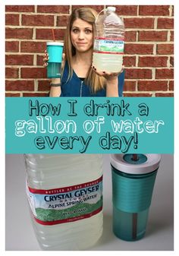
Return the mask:
[[55,225],[82,220],[102,210],[102,177],[80,185],[49,190],[27,185],[27,198],[37,223]]

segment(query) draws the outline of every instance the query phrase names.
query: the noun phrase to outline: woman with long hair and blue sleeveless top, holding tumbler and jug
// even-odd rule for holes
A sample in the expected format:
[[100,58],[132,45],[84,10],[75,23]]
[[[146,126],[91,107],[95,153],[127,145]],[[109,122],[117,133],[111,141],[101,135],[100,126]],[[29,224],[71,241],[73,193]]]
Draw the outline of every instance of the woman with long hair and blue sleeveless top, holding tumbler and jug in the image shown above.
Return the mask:
[[[92,67],[96,11],[75,9],[64,37],[62,77],[52,78],[50,96],[121,96],[124,72],[108,73]],[[48,61],[46,53],[45,66]]]

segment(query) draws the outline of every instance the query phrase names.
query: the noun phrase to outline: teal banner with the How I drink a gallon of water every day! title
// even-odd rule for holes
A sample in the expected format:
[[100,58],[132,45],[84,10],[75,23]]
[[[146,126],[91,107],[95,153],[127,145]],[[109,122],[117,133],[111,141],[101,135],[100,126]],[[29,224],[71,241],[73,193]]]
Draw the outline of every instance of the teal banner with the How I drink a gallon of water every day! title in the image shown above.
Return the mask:
[[174,99],[6,98],[6,153],[174,153]]

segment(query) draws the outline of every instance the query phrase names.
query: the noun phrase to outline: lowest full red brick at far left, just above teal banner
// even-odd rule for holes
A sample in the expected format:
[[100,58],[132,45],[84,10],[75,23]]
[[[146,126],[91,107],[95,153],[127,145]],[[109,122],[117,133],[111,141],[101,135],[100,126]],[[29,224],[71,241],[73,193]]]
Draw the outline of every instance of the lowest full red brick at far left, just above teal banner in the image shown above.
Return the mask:
[[6,90],[34,90],[34,81],[32,80],[16,80],[5,81]]

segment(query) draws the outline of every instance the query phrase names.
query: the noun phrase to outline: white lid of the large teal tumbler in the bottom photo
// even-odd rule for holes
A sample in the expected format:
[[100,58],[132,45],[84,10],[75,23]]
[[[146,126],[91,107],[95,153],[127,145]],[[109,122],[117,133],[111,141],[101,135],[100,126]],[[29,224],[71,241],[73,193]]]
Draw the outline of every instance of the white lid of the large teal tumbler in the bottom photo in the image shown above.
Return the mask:
[[133,164],[132,161],[127,161],[124,156],[125,154],[120,153],[111,154],[111,166],[115,167],[115,169],[121,172],[126,172],[130,174],[145,174],[153,172],[155,171],[155,169],[159,168],[159,163],[161,160],[160,154],[146,153],[143,154],[143,156],[146,157],[146,161],[144,163],[143,161],[142,163],[140,162],[139,154],[139,160]]

